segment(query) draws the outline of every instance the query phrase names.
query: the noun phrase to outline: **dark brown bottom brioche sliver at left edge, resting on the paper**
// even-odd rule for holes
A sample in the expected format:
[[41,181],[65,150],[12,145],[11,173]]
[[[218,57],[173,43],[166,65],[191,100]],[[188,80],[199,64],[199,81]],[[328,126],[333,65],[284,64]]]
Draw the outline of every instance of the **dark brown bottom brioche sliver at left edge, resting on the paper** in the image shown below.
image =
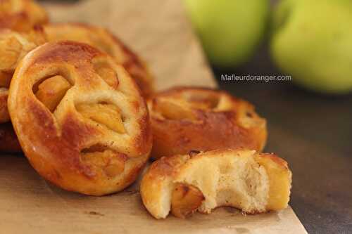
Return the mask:
[[10,122],[0,124],[0,152],[22,152]]

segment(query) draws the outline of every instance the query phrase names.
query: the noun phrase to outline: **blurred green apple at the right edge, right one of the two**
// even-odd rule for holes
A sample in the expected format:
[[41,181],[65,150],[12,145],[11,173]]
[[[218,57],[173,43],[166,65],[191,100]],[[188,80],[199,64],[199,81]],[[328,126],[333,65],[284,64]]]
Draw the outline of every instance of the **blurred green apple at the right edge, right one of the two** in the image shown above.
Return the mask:
[[306,89],[352,91],[352,1],[283,0],[272,15],[270,51]]

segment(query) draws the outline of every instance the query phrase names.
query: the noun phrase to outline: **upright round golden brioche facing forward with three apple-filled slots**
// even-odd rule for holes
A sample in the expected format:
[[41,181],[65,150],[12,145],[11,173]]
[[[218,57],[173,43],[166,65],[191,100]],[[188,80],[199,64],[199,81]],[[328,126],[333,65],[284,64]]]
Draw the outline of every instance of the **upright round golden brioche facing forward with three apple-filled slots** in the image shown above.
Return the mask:
[[13,75],[8,110],[34,169],[66,190],[118,192],[149,158],[149,115],[137,84],[87,44],[47,43],[28,53]]

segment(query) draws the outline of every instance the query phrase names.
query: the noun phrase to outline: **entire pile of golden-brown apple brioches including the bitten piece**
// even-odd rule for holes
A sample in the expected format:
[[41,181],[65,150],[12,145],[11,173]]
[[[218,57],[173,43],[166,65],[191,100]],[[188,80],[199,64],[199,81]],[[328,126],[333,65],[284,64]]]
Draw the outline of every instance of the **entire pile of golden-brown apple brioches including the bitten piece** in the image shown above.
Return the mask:
[[156,219],[284,209],[291,171],[261,152],[267,135],[253,105],[225,91],[155,92],[146,63],[108,30],[0,1],[0,152],[23,151],[56,186],[116,193],[151,157],[140,194]]

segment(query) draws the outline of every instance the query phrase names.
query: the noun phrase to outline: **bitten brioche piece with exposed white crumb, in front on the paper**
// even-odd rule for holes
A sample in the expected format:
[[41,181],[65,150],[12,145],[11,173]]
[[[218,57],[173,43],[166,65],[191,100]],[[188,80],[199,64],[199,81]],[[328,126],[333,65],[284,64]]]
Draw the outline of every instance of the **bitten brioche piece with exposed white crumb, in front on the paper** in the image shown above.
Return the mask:
[[216,207],[255,214],[287,207],[291,171],[273,154],[213,150],[162,157],[142,178],[143,203],[156,219],[184,218]]

